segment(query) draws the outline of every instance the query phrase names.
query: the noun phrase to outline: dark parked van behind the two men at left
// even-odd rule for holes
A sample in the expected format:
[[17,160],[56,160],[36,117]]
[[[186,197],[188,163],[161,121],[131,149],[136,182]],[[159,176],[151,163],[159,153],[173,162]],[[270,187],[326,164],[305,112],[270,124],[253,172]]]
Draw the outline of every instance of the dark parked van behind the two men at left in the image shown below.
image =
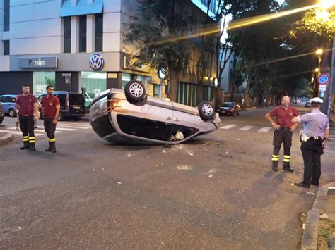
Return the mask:
[[[37,100],[41,102],[45,94],[38,96]],[[72,93],[66,91],[55,91],[54,95],[59,98],[61,111],[57,120],[64,120],[64,118],[79,119],[85,116],[85,99],[82,94]],[[43,118],[41,112],[40,118]]]

